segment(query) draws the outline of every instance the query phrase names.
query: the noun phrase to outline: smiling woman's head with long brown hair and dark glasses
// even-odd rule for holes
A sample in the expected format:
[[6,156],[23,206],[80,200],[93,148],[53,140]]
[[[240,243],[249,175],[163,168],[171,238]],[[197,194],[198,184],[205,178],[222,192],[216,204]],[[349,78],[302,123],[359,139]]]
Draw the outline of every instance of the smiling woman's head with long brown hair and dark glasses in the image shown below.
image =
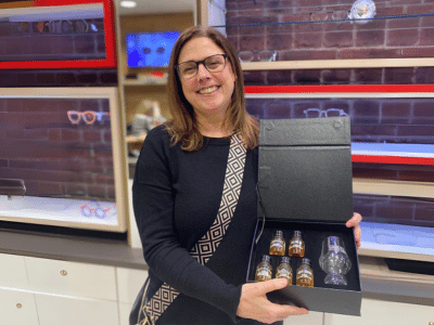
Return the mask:
[[257,121],[245,110],[240,61],[220,32],[199,27],[184,31],[174,47],[168,73],[173,121],[167,130],[182,150],[196,151],[203,135],[227,136],[234,130],[247,148],[257,145]]

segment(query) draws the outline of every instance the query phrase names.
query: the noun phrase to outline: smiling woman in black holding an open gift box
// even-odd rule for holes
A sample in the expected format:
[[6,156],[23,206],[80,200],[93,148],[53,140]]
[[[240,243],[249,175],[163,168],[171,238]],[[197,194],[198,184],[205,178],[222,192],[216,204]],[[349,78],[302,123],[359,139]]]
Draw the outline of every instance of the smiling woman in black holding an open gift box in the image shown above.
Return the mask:
[[[168,72],[173,119],[148,134],[132,187],[150,274],[148,313],[157,325],[282,324],[306,314],[267,300],[285,280],[245,284],[257,216],[258,125],[245,112],[235,51],[215,29],[191,27],[176,42]],[[194,251],[220,216],[237,143],[245,152],[237,208],[214,253],[202,260]],[[360,219],[356,213],[347,222],[358,242]],[[137,310],[131,316],[136,324]]]

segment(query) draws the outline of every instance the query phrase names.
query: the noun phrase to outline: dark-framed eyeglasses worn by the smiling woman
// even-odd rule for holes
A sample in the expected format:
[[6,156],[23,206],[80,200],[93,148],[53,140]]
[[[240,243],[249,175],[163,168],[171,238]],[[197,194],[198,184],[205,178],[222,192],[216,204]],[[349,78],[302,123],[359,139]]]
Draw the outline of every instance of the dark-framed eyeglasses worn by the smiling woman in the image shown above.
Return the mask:
[[204,67],[212,74],[222,72],[226,66],[228,54],[215,54],[205,57],[202,61],[187,61],[175,66],[178,75],[182,79],[190,79],[197,75],[199,65],[202,63]]

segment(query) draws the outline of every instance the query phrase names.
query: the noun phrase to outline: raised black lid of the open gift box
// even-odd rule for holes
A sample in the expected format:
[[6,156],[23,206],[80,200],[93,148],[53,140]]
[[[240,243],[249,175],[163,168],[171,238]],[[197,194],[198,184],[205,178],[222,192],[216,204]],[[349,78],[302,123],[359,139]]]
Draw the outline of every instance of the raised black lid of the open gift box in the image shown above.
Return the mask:
[[353,216],[349,122],[349,117],[260,121],[259,218],[346,222]]

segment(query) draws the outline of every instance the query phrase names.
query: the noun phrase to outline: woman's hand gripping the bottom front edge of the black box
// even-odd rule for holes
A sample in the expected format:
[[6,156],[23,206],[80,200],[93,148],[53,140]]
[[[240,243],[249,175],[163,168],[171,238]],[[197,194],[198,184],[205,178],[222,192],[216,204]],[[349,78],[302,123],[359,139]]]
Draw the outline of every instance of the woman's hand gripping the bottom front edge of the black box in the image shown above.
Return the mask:
[[276,304],[267,299],[266,294],[282,289],[288,285],[286,278],[273,278],[266,282],[244,284],[241,289],[237,315],[261,323],[272,324],[291,315],[304,315],[308,311],[286,304]]

